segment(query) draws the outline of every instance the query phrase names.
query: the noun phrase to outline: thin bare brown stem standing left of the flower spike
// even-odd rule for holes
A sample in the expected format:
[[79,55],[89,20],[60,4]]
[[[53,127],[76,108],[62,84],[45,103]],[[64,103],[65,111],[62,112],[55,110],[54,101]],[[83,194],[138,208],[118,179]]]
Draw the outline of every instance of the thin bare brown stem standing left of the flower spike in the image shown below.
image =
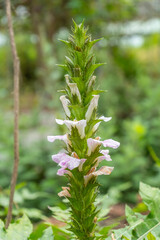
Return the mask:
[[13,208],[13,198],[15,192],[15,186],[18,175],[18,164],[19,164],[19,73],[20,73],[20,62],[17,54],[14,30],[12,24],[12,14],[11,14],[11,3],[10,0],[6,0],[6,15],[8,19],[8,29],[11,43],[11,51],[13,57],[13,70],[14,70],[14,166],[11,179],[11,191],[9,199],[9,208],[6,218],[5,227],[8,228],[12,219],[12,208]]

